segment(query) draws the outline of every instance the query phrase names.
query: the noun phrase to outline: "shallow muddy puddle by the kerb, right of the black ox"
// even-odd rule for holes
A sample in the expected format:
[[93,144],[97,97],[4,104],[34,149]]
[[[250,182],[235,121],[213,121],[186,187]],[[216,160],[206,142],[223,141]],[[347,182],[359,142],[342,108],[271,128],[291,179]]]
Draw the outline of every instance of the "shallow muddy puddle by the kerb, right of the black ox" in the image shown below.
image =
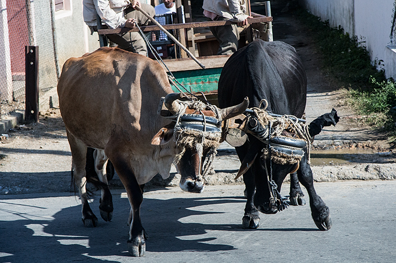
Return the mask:
[[378,152],[363,149],[338,149],[311,151],[311,165],[341,165],[351,162],[375,162]]

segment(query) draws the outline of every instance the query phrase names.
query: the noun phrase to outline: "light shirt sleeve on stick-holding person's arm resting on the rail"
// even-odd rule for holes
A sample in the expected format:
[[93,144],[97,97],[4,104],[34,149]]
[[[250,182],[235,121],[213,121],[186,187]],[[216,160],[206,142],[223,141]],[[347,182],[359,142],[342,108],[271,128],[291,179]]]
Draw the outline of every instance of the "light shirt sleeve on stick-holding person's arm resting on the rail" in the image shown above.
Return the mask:
[[127,20],[123,17],[123,12],[116,13],[110,8],[108,0],[94,0],[94,4],[100,19],[109,28],[114,29],[125,27],[125,22]]

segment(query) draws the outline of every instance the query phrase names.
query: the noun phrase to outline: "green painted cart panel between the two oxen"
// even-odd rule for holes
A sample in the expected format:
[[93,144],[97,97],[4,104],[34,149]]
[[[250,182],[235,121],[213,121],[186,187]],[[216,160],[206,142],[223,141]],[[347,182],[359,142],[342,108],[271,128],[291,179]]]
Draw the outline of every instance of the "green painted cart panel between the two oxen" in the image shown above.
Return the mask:
[[[223,68],[178,71],[172,72],[172,74],[189,91],[191,87],[193,92],[202,91],[208,93],[217,92],[217,84],[222,69]],[[178,92],[174,86],[172,86],[172,89],[174,92]]]

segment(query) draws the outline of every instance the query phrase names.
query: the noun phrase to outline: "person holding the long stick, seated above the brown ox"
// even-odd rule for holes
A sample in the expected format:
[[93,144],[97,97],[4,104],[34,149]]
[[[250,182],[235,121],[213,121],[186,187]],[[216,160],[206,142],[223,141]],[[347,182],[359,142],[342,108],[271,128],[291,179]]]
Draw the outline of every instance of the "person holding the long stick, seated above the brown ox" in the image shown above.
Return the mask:
[[[97,14],[107,28],[134,28],[136,19],[139,26],[148,26],[153,23],[140,11],[134,7],[139,5],[151,17],[155,15],[154,7],[149,4],[142,4],[140,0],[132,0],[132,4],[127,0],[83,0],[84,22],[91,29],[91,34],[98,31]],[[106,37],[118,44],[119,48],[139,53],[147,56],[147,46],[145,40],[139,32],[110,34]]]

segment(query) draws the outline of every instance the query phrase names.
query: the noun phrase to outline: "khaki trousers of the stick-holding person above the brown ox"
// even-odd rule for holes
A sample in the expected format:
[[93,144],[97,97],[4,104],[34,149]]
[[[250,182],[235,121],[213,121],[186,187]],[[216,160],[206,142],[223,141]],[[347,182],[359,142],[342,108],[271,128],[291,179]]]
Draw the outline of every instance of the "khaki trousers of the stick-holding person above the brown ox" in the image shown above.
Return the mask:
[[[151,5],[142,3],[141,8],[146,11],[151,17],[155,16],[154,7],[152,7]],[[142,12],[133,9],[132,7],[128,7],[127,9],[125,9],[125,18],[136,19],[139,26],[153,25],[151,20],[149,20]],[[139,32],[128,32],[124,33],[121,36],[119,34],[110,34],[106,35],[106,37],[110,41],[116,43],[121,49],[147,56],[146,42]]]

